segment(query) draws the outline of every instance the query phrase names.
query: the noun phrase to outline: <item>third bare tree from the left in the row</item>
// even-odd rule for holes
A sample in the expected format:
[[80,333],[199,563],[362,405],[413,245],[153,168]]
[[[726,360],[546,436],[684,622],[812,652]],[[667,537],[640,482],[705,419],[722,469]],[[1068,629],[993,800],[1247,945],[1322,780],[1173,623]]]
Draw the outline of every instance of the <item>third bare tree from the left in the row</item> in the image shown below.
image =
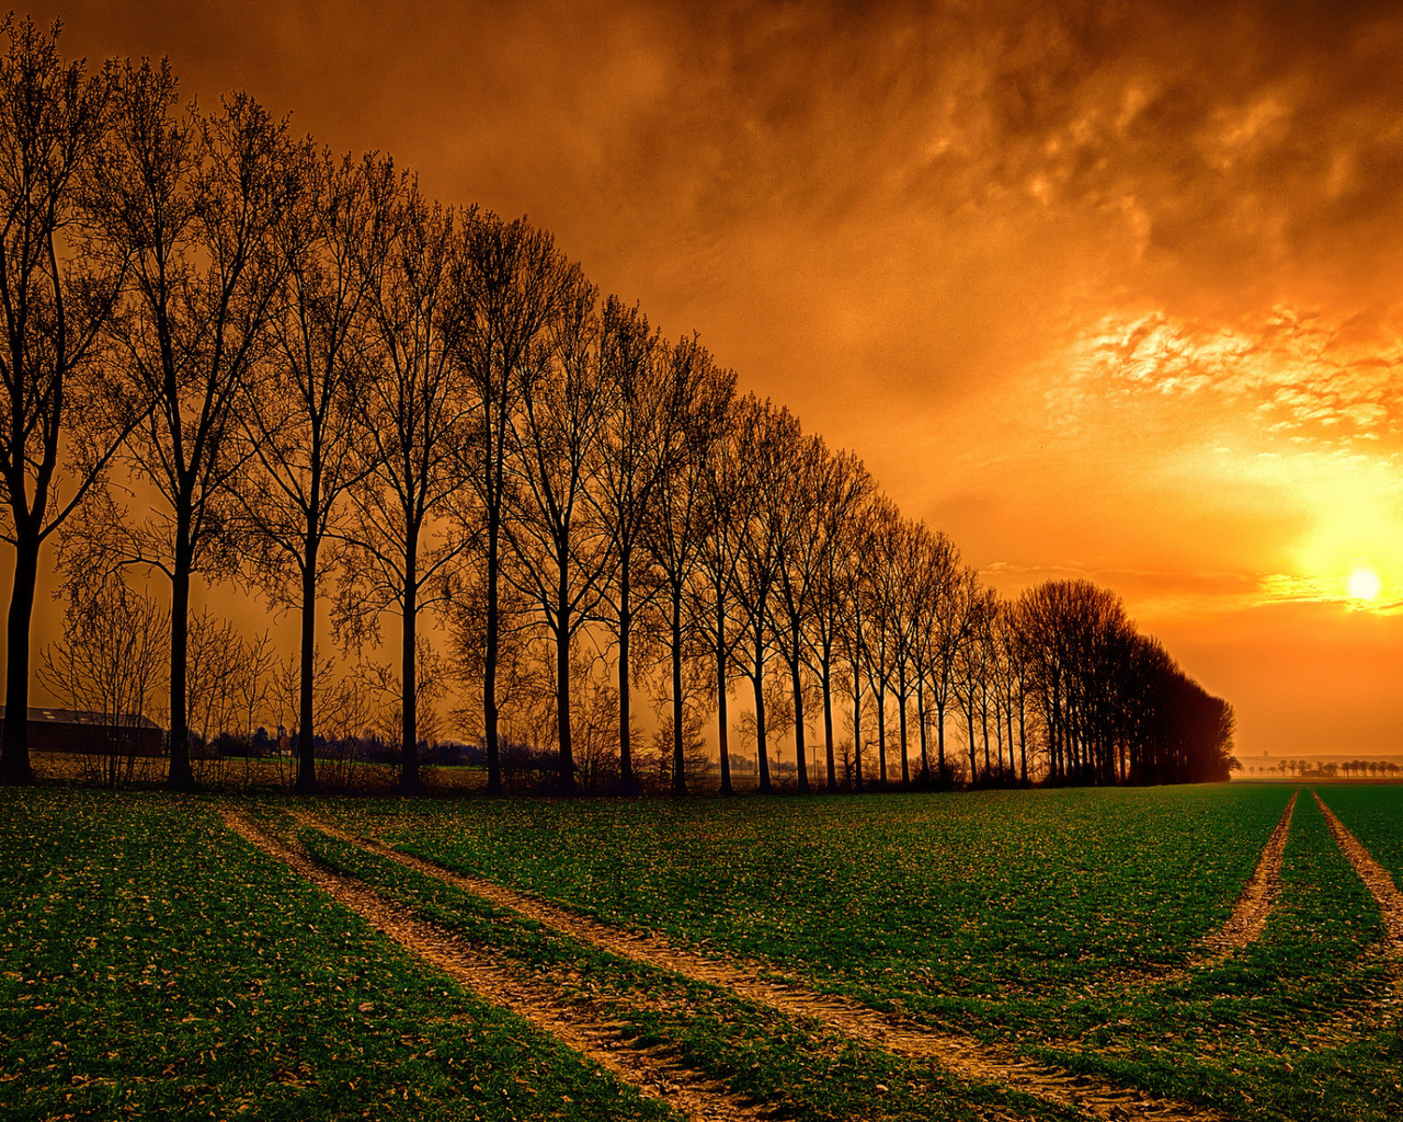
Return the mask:
[[370,463],[358,447],[355,332],[394,233],[400,184],[389,160],[335,160],[310,147],[300,158],[304,191],[276,227],[288,278],[275,346],[243,401],[261,471],[240,498],[264,586],[302,613],[296,790],[310,794],[317,595],[335,560],[341,499]]

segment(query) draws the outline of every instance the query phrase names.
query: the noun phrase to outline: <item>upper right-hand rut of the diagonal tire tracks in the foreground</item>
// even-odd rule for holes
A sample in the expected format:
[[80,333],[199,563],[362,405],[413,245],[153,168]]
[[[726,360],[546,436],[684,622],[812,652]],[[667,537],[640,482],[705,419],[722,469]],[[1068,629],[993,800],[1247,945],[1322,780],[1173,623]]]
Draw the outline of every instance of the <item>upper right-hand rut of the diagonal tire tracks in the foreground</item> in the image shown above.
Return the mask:
[[901,1020],[839,994],[821,994],[797,980],[772,982],[738,965],[676,947],[658,935],[622,931],[492,881],[455,872],[401,853],[383,842],[358,837],[307,811],[289,813],[303,826],[386,857],[620,958],[671,971],[693,982],[721,986],[786,1015],[819,1021],[826,1028],[898,1056],[934,1060],[960,1079],[1013,1088],[1051,1105],[1082,1111],[1103,1122],[1215,1122],[1221,1118],[1208,1108],[1127,1091],[1090,1076],[1034,1063],[1009,1049],[986,1045],[971,1036],[939,1032]]

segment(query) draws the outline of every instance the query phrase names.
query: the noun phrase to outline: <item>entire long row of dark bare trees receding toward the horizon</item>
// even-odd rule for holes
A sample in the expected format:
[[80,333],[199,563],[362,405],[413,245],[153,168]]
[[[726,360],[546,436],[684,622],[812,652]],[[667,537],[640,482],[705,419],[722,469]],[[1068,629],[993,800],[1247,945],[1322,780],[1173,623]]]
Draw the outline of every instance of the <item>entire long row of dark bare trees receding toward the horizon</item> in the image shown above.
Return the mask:
[[[709,725],[725,792],[752,766],[760,791],[1226,778],[1230,707],[1113,593],[1000,599],[549,233],[441,206],[247,95],[181,108],[164,63],[88,74],[58,28],[4,31],[6,781],[32,778],[55,536],[69,627],[45,682],[93,712],[164,698],[174,788],[275,714],[297,791],[328,743],[397,745],[418,790],[445,704],[492,792],[529,759],[558,791],[682,794]],[[300,613],[286,663],[192,613],[195,582],[231,579]],[[386,617],[394,668],[361,661]]]

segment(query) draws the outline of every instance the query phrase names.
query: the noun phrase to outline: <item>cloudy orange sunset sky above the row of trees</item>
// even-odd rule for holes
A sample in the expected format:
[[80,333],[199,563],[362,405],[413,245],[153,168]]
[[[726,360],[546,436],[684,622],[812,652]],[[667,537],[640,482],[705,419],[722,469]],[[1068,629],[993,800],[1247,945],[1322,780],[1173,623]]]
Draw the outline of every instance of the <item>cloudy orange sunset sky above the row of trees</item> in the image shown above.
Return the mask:
[[528,215],[1000,590],[1120,592],[1244,762],[1403,753],[1396,0],[28,11]]

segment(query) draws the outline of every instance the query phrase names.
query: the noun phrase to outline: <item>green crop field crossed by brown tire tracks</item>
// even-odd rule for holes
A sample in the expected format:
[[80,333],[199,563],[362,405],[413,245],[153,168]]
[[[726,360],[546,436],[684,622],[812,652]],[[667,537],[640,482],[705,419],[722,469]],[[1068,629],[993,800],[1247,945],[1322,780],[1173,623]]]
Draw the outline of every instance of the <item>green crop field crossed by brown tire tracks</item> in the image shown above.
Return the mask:
[[0,791],[0,1116],[1397,1118],[1400,795]]

